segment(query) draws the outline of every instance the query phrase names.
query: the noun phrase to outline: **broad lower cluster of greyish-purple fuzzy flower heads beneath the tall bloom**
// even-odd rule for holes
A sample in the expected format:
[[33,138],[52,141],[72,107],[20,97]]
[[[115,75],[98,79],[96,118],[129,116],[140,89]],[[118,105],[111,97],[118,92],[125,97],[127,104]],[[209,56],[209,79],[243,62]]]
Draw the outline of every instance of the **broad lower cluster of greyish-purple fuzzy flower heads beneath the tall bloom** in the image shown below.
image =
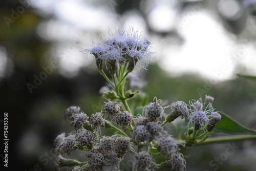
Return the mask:
[[[154,98],[154,102],[144,106],[142,115],[138,114],[137,117],[123,110],[121,103],[111,100],[105,102],[100,112],[91,116],[82,112],[78,106],[71,106],[66,110],[64,116],[69,118],[76,131],[71,132],[67,137],[65,133],[58,135],[54,140],[54,147],[57,154],[66,153],[68,155],[74,149],[87,150],[87,168],[93,170],[120,170],[119,164],[126,152],[134,153],[132,143],[136,145],[147,144],[158,153],[169,156],[168,160],[159,165],[160,167],[164,168],[165,164],[171,170],[186,170],[186,161],[179,152],[181,144],[177,143],[172,136],[164,131],[163,125],[181,116],[181,119],[189,120],[189,130],[186,133],[187,135],[185,134],[187,137],[202,130],[205,135],[212,131],[217,122],[221,120],[221,115],[214,112],[215,109],[212,108],[213,100],[214,98],[206,96],[204,103],[201,98],[190,101],[189,105],[182,101],[173,102],[170,105],[170,109],[173,111],[165,118],[164,122],[161,121],[161,118],[165,108],[169,106],[161,105],[161,100],[156,98]],[[111,121],[114,119],[116,125],[122,127],[123,132],[119,130],[120,134],[113,136],[99,135],[100,126],[111,127],[113,126]],[[131,138],[124,133],[128,127],[132,131]],[[115,130],[118,130],[118,128]],[[67,161],[59,157],[57,163],[65,165],[63,163]],[[150,151],[135,153],[134,167],[137,170],[148,170],[153,165],[154,159]],[[75,166],[73,170],[83,170],[83,167]]]

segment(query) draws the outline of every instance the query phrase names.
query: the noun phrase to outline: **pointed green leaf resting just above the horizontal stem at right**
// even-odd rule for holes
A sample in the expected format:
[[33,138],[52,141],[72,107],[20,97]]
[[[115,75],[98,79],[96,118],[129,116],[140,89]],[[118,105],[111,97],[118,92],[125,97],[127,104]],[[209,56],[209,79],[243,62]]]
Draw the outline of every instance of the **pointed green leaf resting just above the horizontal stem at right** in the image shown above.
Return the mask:
[[256,131],[248,129],[222,112],[220,114],[221,120],[215,125],[215,132],[231,135],[256,135]]

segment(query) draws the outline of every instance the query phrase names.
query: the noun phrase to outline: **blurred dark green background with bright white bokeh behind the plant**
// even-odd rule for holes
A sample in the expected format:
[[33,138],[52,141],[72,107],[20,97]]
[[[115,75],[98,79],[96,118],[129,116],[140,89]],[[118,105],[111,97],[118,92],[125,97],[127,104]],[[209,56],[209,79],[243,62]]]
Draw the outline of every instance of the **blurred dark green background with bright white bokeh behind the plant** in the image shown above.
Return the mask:
[[[106,82],[81,51],[109,29],[134,27],[153,42],[155,59],[139,81],[130,81],[148,102],[211,95],[217,111],[256,130],[256,83],[236,76],[256,75],[254,0],[3,0],[0,9],[1,130],[4,112],[9,117],[5,170],[55,170],[53,140],[72,131],[64,111],[71,105],[88,115],[100,110]],[[234,144],[227,157],[227,143],[188,149],[187,170],[255,170],[255,141]],[[121,168],[130,170],[126,165]]]

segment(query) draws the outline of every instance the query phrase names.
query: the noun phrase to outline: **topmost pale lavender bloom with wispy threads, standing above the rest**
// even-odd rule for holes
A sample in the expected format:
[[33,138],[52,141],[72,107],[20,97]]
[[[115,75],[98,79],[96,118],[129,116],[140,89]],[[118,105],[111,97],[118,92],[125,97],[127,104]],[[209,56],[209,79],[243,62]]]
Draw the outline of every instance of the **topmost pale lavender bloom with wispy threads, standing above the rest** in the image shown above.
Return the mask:
[[125,63],[127,71],[133,71],[137,62],[145,68],[148,60],[151,60],[149,48],[151,43],[138,34],[133,28],[128,31],[117,30],[108,38],[101,37],[97,45],[93,42],[91,49],[85,49],[85,53],[93,54],[96,66],[102,70],[104,64],[106,69],[113,75],[116,73],[116,65]]

